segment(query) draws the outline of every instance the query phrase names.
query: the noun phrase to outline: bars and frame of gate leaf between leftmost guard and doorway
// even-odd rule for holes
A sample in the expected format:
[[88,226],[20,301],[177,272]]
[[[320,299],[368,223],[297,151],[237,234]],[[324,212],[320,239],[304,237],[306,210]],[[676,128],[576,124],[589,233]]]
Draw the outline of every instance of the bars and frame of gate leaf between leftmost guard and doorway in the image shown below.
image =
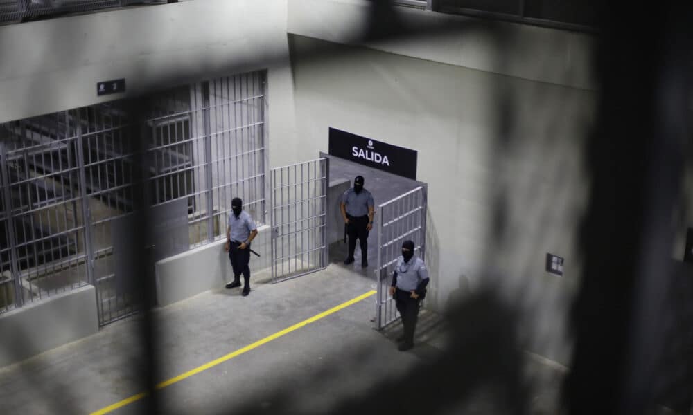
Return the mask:
[[[322,172],[317,172],[317,169],[314,169],[314,174],[315,177],[310,178],[310,163],[313,163],[313,166],[320,166],[320,170]],[[304,172],[303,172],[303,167],[304,165],[308,165],[308,178],[304,178]],[[298,182],[298,176],[297,176],[297,168],[301,166],[301,178],[300,178],[300,183]],[[284,172],[287,172],[287,179],[290,178],[290,172],[293,171],[293,177],[294,177],[294,183],[283,183],[284,182]],[[277,187],[277,179],[279,175],[279,187]],[[305,179],[305,180],[304,180]],[[281,194],[280,198],[277,198],[277,190],[281,190],[285,187],[290,187],[294,186],[294,199],[297,197],[297,186],[300,184],[301,185],[301,198],[303,198],[303,185],[305,183],[310,183],[311,181],[317,181],[320,180],[322,181],[322,194],[319,194],[319,196],[313,196],[313,197],[308,197],[308,199],[301,199],[301,200],[294,200],[294,201],[287,201],[286,205],[284,204],[283,200],[283,194]],[[271,246],[272,246],[272,284],[276,284],[277,282],[282,282],[286,281],[287,279],[293,279],[296,277],[301,277],[302,275],[307,275],[310,273],[315,273],[316,271],[319,270],[324,270],[327,268],[328,264],[328,252],[327,252],[327,206],[328,206],[328,191],[329,191],[329,182],[330,182],[330,160],[329,158],[326,157],[320,157],[316,158],[313,160],[308,160],[303,163],[295,163],[292,165],[286,165],[282,167],[274,167],[273,169],[270,169],[270,193],[269,193],[269,198],[270,198],[270,227],[272,228],[272,234],[271,234]],[[277,200],[280,199],[280,200]],[[322,199],[322,203],[318,203],[317,205],[319,207],[322,207],[322,212],[316,212],[313,216],[308,216],[308,218],[301,217],[299,218],[299,212],[298,210],[293,210],[294,213],[294,221],[290,221],[288,223],[279,223],[282,219],[280,219],[277,210],[278,209],[283,209],[283,208],[288,208],[290,205],[297,205],[299,203],[303,203],[304,201],[315,201],[317,199]],[[281,204],[279,204],[281,203]],[[310,206],[310,205],[309,205]],[[309,208],[310,210],[310,208]],[[303,216],[301,212],[301,216]],[[291,214],[291,212],[289,212]],[[281,215],[283,216],[283,214]],[[280,234],[280,228],[286,225],[290,225],[291,223],[298,223],[299,221],[310,221],[311,219],[317,219],[317,218],[322,218],[321,221],[319,221],[319,225],[310,227],[307,229],[301,229],[301,230],[295,230],[294,232],[289,232],[288,234]],[[295,225],[296,226],[296,225]],[[283,245],[282,245],[282,252],[281,252],[281,257],[280,255],[280,250],[278,247],[278,243],[281,240],[282,237],[287,237],[290,236],[291,234],[299,234],[301,233],[301,238],[303,237],[302,232],[306,231],[312,231],[316,229],[322,228],[322,237],[320,237],[320,241],[313,241],[313,245],[319,244],[320,246],[313,246],[310,244],[310,235],[308,235],[308,249],[304,249],[304,246],[301,246],[301,251],[300,252],[295,252],[294,254],[289,253],[288,255],[283,255]],[[303,239],[301,239],[301,245],[302,245]],[[319,242],[319,243],[317,243]],[[289,259],[292,257],[297,257],[301,255],[301,258],[303,258],[306,253],[310,255],[310,252],[315,252],[316,250],[322,250],[320,256],[319,256],[319,264],[315,267],[309,267],[308,270],[304,271],[298,271],[297,268],[294,269],[294,273],[291,271],[290,265],[288,266],[287,273],[284,273],[283,270],[283,261],[286,259]],[[310,258],[310,257],[309,257]],[[279,272],[279,262],[281,261],[281,275]],[[290,262],[289,262],[290,264]],[[298,272],[297,272],[298,271]]]

